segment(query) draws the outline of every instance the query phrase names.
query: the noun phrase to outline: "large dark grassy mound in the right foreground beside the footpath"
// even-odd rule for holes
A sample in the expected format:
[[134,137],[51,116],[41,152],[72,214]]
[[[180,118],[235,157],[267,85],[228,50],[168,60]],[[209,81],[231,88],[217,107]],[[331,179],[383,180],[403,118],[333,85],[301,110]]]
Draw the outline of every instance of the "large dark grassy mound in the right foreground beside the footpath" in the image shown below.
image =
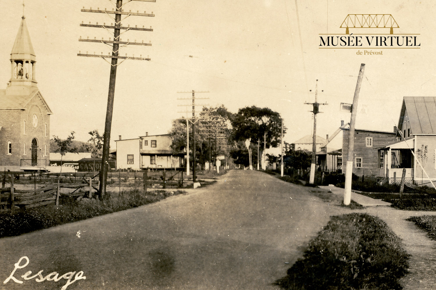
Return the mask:
[[409,255],[385,222],[366,213],[332,217],[304,258],[276,284],[285,289],[402,289]]

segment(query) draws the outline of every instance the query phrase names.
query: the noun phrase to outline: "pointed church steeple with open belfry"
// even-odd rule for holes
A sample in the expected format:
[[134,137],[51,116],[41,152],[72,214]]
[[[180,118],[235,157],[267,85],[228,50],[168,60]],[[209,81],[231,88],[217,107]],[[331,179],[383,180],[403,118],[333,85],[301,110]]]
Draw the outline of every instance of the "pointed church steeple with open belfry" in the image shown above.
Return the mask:
[[27,30],[26,20],[21,17],[20,28],[14,47],[10,53],[11,78],[10,85],[34,86],[35,80],[35,51],[31,43],[29,30]]

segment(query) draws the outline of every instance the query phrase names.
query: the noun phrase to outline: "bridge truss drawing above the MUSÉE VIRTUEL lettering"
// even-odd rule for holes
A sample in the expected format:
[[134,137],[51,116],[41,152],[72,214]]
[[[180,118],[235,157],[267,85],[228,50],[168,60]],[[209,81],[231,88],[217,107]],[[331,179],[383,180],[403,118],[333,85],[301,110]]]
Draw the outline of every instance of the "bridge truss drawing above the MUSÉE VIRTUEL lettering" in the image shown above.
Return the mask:
[[392,14],[348,14],[341,28],[399,28]]

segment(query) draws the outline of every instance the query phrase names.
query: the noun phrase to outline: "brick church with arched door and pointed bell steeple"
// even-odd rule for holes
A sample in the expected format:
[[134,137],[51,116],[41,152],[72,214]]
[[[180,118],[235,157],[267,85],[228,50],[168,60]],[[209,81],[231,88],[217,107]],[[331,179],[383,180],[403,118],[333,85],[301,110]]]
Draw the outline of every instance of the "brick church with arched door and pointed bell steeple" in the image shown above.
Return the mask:
[[0,90],[0,170],[45,170],[50,165],[52,112],[37,88],[35,64],[23,16],[10,53],[10,80]]

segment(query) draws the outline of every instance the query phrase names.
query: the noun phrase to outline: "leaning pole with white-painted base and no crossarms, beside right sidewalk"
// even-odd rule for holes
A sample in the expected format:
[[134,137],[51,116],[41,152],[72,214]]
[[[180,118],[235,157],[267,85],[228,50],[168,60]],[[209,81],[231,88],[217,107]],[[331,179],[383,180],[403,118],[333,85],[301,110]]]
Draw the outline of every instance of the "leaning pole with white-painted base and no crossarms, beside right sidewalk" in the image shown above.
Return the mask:
[[353,175],[353,157],[354,157],[354,126],[356,124],[357,103],[359,100],[360,86],[365,71],[365,64],[361,63],[359,75],[357,77],[356,89],[354,90],[353,105],[351,106],[350,134],[348,135],[348,152],[347,164],[345,167],[345,189],[344,204],[349,205],[351,202],[351,177]]

